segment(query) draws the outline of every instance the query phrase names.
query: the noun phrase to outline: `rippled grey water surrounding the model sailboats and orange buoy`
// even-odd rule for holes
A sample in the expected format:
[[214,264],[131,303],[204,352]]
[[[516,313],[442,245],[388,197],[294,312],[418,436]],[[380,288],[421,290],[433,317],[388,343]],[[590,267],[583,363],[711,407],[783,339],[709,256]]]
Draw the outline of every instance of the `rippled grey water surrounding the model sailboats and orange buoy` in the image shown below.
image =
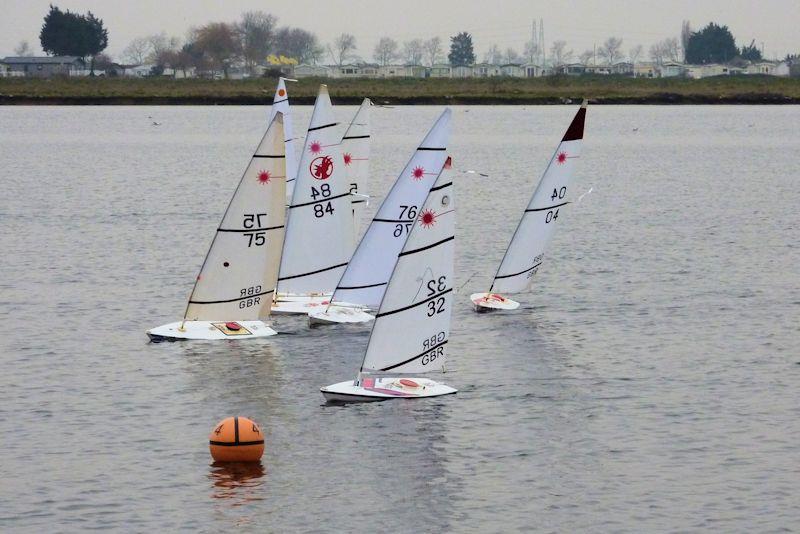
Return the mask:
[[[440,111],[374,108],[368,214]],[[796,529],[800,108],[590,106],[591,192],[521,309],[477,315],[575,111],[454,108],[454,166],[489,174],[456,177],[459,392],[336,406],[318,389],[369,327],[145,336],[180,319],[268,108],[0,108],[0,529]],[[230,415],[260,466],[212,465]]]

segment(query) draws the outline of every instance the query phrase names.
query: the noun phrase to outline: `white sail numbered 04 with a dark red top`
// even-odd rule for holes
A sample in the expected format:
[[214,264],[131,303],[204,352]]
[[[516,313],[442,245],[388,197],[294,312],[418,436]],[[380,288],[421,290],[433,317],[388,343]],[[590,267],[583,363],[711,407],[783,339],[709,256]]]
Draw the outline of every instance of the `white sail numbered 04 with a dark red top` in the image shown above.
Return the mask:
[[528,203],[494,277],[491,292],[518,293],[530,287],[556,224],[570,203],[570,179],[580,157],[585,119],[586,101],[567,129]]

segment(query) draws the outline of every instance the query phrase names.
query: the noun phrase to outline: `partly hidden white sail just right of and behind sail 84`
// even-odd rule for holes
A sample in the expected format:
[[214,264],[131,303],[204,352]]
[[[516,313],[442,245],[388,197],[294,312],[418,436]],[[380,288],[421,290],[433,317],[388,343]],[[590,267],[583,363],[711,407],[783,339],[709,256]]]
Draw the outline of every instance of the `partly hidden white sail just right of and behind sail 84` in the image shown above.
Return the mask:
[[364,207],[367,205],[365,195],[369,178],[369,108],[371,106],[370,99],[365,98],[342,137],[342,158],[344,158],[347,182],[350,184],[350,192],[357,194],[352,197],[354,236],[358,235],[358,226]]

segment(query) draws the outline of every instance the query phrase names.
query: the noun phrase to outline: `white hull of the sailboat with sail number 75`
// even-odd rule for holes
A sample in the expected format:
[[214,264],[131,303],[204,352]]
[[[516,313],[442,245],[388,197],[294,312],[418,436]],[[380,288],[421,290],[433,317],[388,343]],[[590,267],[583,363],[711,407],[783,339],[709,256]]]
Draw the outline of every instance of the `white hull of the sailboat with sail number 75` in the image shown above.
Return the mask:
[[[238,328],[237,328],[238,327]],[[150,341],[215,341],[274,336],[277,332],[263,321],[179,321],[147,331]]]

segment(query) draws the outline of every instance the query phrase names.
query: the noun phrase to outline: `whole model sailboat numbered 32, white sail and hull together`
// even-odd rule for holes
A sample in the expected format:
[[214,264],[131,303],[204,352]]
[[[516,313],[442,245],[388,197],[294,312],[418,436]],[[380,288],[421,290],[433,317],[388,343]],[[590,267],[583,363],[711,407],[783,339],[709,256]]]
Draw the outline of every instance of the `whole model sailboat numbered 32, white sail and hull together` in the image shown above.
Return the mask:
[[375,401],[447,395],[428,378],[444,370],[453,308],[455,199],[446,166],[414,218],[375,316],[356,380],[322,388],[329,401]]

